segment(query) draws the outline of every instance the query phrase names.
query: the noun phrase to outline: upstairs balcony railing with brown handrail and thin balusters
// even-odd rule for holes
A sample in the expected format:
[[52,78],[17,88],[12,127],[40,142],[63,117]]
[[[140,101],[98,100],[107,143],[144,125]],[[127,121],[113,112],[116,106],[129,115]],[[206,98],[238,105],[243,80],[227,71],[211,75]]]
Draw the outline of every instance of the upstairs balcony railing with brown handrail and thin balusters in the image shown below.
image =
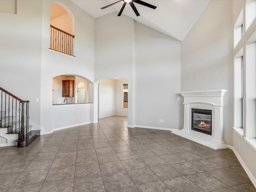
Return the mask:
[[50,26],[50,49],[74,56],[74,38],[74,35]]

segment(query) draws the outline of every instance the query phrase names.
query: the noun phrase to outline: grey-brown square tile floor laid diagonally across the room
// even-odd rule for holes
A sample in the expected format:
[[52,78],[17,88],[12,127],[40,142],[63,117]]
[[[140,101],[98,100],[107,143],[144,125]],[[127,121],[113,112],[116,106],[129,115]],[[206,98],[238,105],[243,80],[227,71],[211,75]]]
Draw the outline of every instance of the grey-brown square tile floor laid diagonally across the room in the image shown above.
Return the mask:
[[0,192],[256,192],[232,150],[112,116],[0,148]]

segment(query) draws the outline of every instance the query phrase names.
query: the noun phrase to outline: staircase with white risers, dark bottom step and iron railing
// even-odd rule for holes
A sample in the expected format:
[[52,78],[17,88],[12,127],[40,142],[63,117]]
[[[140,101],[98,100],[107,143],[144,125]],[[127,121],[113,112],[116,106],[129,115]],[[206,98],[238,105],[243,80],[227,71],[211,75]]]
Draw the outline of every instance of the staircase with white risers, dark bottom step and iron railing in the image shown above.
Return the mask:
[[0,100],[0,146],[28,146],[40,135],[29,125],[29,101],[1,87]]

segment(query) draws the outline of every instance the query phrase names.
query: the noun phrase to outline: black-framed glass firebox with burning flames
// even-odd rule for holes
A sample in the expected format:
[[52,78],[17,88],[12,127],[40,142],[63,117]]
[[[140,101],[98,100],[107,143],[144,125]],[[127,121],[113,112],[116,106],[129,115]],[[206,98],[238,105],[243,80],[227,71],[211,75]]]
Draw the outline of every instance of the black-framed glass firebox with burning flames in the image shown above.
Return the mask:
[[191,129],[208,135],[212,135],[212,110],[191,109]]

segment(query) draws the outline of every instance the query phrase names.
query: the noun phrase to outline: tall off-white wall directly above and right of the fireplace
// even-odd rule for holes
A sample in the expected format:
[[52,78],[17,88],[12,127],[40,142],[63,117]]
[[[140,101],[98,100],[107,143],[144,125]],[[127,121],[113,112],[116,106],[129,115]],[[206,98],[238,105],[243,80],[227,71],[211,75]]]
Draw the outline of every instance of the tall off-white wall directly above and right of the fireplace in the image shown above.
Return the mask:
[[210,1],[181,43],[181,90],[227,89],[224,142],[232,145],[233,126],[232,1]]

